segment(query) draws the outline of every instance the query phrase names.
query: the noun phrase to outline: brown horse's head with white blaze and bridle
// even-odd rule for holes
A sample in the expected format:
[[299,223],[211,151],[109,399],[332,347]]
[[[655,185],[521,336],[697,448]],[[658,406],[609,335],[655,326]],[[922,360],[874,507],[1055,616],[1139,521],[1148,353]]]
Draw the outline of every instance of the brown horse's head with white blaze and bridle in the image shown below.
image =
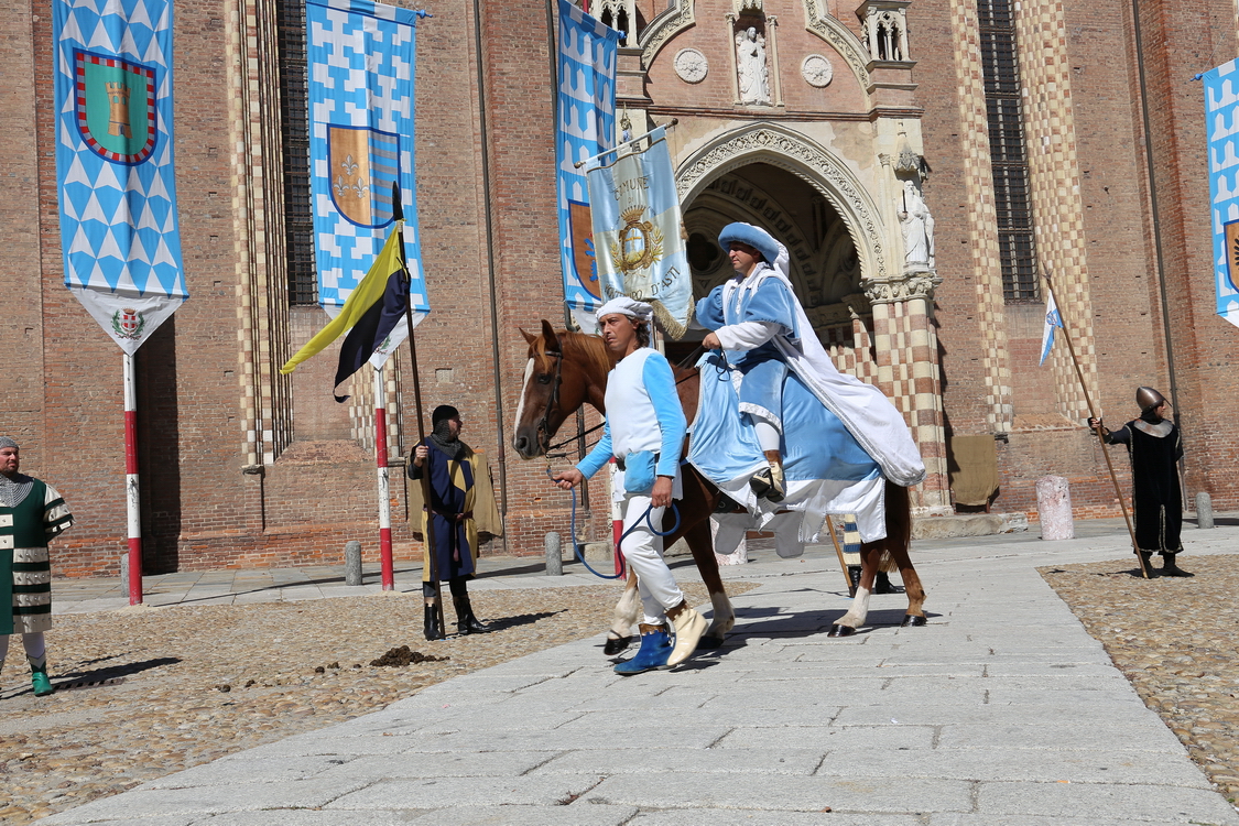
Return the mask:
[[512,446],[522,458],[541,456],[560,425],[589,401],[602,409],[611,363],[595,336],[560,331],[543,320],[541,333],[520,331],[529,343],[529,360],[517,407]]

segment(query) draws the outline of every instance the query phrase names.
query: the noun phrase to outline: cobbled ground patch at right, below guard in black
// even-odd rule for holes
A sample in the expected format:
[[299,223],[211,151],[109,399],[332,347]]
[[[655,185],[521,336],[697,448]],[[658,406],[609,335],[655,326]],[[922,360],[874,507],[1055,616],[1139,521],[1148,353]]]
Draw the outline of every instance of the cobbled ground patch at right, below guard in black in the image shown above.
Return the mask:
[[1239,556],[1196,577],[1140,577],[1135,557],[1038,568],[1232,805],[1239,802]]

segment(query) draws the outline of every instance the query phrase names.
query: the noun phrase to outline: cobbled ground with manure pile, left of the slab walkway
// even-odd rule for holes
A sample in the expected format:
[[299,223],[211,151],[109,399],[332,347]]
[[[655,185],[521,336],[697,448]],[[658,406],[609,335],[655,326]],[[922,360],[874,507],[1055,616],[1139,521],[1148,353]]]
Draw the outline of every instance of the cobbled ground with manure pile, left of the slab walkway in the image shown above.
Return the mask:
[[[691,604],[709,602],[703,585],[681,587]],[[755,587],[727,586],[732,594]],[[47,635],[56,693],[31,693],[20,638],[0,675],[0,824],[27,824],[593,637],[610,624],[618,593],[478,591],[473,611],[494,632],[437,643],[422,637],[421,599],[409,596],[57,617]],[[446,615],[455,630],[451,606]],[[370,665],[403,645],[446,659]]]

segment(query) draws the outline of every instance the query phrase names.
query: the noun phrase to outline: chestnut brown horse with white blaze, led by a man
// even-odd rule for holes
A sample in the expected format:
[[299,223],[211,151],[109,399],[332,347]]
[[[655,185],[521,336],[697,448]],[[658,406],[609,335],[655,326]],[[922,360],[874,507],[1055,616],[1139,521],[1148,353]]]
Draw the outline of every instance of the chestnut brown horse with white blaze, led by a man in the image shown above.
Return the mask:
[[[541,322],[540,334],[534,336],[524,329],[519,332],[529,344],[529,352],[512,446],[522,458],[533,459],[546,454],[551,438],[560,426],[582,405],[589,404],[600,414],[606,412],[607,374],[615,367],[616,359],[600,337],[563,329],[556,332],[545,320]],[[673,367],[673,372],[684,416],[691,425],[698,412],[700,372],[698,368],[683,367]],[[719,648],[727,632],[736,624],[736,613],[724,589],[710,533],[710,515],[719,508],[724,494],[691,464],[683,466],[683,483],[684,497],[678,502],[679,526],[663,541],[670,547],[683,537],[693,552],[693,560],[710,593],[714,608],[714,622],[703,635],[700,648]],[[872,593],[873,580],[883,554],[888,554],[898,566],[908,597],[902,625],[926,624],[923,611],[926,592],[908,556],[912,539],[908,490],[886,480],[885,495],[886,537],[861,544],[860,587],[847,613],[831,625],[829,637],[850,637],[865,624],[869,594]],[[662,529],[670,530],[673,523],[674,515],[668,509]],[[631,643],[628,632],[638,619],[639,608],[637,578],[629,572],[603,648],[607,655],[618,654]]]

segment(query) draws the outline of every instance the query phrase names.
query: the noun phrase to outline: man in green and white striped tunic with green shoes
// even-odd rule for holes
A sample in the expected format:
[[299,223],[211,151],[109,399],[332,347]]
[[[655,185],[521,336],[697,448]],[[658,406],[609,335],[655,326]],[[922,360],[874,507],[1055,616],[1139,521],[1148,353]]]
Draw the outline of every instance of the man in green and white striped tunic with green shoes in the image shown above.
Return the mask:
[[52,485],[25,476],[17,442],[0,436],[0,669],[9,635],[21,634],[35,695],[52,693],[47,643],[52,627],[52,567],[47,540],[73,524],[64,499]]

